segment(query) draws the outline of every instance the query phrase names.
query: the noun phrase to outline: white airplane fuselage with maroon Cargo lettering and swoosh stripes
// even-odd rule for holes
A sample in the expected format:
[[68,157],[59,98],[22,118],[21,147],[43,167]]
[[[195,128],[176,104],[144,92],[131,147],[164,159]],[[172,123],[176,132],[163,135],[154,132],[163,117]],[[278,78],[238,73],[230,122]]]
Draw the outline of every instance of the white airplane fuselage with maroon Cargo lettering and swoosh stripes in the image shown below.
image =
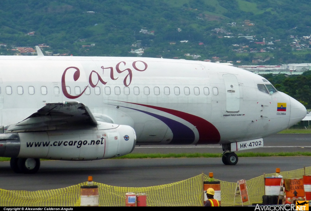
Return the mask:
[[258,84],[270,85],[263,79],[200,61],[0,56],[0,124],[20,122],[45,103],[76,100],[99,121],[134,128],[137,144],[251,140],[306,115],[288,95],[260,91]]

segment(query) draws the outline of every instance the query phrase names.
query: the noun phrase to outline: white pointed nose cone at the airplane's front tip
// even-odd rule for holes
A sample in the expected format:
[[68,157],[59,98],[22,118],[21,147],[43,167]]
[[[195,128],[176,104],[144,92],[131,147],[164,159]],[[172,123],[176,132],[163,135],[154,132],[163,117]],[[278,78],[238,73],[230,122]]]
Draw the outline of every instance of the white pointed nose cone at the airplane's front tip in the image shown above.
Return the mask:
[[290,121],[288,127],[291,127],[301,121],[307,115],[307,109],[303,104],[290,97]]

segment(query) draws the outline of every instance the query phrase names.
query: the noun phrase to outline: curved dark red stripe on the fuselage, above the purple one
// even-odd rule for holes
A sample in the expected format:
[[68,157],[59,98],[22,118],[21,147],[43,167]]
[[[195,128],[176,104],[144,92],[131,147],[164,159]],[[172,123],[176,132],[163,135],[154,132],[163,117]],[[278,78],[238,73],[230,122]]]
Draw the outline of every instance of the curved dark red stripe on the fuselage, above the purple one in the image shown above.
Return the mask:
[[[130,102],[124,102],[124,101],[119,101],[119,102],[130,103]],[[197,144],[213,144],[213,143],[218,143],[220,141],[220,134],[217,128],[212,123],[210,123],[209,121],[206,121],[205,119],[199,116],[195,116],[195,115],[192,115],[186,112],[177,111],[177,110],[173,110],[169,108],[162,108],[158,106],[151,106],[151,105],[145,105],[145,104],[140,104],[140,103],[131,103],[131,104],[141,105],[141,106],[145,106],[148,108],[160,110],[160,111],[172,114],[174,116],[177,116],[179,118],[182,118],[190,122],[197,128],[197,131],[199,132],[199,141],[197,142]]]

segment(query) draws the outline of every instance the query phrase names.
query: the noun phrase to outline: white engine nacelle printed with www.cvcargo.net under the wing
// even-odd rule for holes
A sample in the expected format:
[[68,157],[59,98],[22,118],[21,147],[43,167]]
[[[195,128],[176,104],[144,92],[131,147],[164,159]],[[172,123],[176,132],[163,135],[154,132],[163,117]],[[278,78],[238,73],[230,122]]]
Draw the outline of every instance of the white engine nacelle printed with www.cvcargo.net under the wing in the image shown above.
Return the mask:
[[99,125],[96,130],[3,133],[0,157],[100,160],[132,152],[136,144],[134,129],[128,125],[113,126],[107,129]]

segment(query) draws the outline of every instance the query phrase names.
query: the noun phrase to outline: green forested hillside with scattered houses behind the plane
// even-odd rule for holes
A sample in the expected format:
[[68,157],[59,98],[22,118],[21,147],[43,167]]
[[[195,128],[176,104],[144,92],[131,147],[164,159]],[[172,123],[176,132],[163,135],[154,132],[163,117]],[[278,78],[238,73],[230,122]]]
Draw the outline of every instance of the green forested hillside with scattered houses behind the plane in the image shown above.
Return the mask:
[[310,27],[307,0],[0,1],[2,55],[45,44],[50,54],[310,62]]

